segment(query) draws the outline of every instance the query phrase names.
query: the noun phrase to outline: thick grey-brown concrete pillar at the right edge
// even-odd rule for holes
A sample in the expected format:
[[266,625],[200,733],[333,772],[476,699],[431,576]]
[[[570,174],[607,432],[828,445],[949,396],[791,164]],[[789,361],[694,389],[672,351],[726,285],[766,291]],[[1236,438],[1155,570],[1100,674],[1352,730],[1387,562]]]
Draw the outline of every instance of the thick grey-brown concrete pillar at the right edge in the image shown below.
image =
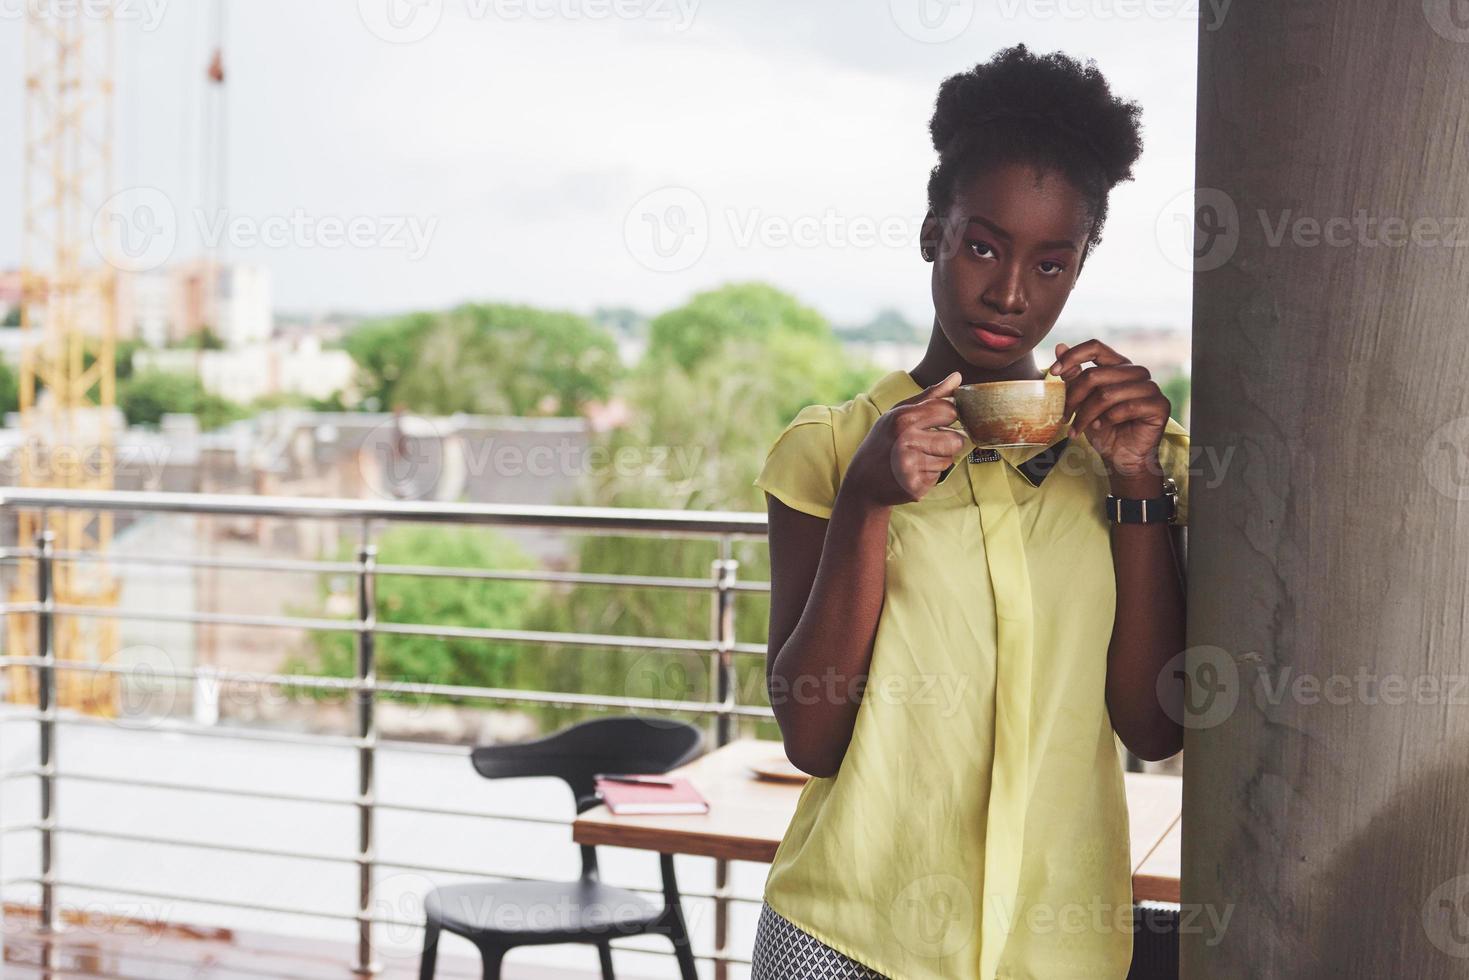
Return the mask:
[[1183,976],[1469,977],[1469,3],[1199,53]]

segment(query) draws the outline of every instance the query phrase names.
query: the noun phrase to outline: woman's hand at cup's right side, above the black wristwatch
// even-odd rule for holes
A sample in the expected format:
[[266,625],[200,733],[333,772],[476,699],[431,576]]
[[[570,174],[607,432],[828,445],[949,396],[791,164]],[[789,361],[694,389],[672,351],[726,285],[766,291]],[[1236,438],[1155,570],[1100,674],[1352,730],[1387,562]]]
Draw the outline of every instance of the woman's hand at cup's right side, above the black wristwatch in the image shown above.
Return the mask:
[[[1087,361],[1094,367],[1083,367]],[[1065,414],[1077,413],[1072,435],[1084,432],[1114,476],[1162,472],[1158,444],[1172,404],[1146,367],[1091,339],[1071,348],[1056,344],[1050,373],[1066,382]]]

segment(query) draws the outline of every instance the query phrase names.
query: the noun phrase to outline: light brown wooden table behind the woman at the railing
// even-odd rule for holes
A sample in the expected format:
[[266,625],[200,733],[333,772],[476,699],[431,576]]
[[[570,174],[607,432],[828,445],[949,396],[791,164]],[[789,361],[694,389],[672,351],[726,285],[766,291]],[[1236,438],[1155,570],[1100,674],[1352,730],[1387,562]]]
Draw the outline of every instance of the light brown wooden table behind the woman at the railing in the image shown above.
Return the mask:
[[[676,768],[710,801],[707,814],[613,815],[595,807],[571,824],[576,843],[768,864],[796,811],[801,783],[757,779],[749,765],[784,757],[780,742],[739,739]],[[1133,899],[1177,902],[1183,780],[1127,773]]]

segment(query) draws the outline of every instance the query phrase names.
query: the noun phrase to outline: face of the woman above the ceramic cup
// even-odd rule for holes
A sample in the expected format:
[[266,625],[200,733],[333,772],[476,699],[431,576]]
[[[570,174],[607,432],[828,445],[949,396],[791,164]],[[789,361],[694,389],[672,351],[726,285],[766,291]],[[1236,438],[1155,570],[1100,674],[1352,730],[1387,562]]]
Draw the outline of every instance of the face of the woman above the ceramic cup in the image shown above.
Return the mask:
[[937,241],[933,306],[965,361],[990,370],[1030,354],[1055,326],[1081,270],[1091,222],[1065,176],[1025,165],[981,173],[956,188],[946,216],[928,215]]

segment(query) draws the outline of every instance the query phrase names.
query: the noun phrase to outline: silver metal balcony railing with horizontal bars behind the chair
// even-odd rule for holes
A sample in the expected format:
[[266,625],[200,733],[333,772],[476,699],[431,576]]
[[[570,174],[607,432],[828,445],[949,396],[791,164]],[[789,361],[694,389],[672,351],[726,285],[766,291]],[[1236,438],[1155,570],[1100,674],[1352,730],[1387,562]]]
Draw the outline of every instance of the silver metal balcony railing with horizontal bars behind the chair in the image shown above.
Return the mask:
[[[548,704],[561,707],[596,707],[618,708],[627,711],[665,711],[708,716],[714,723],[714,741],[724,745],[734,735],[739,718],[773,718],[768,707],[742,705],[737,702],[737,686],[734,683],[736,655],[762,655],[764,644],[740,644],[734,635],[734,599],[740,592],[768,592],[768,582],[740,582],[737,577],[739,563],[733,558],[733,544],[739,539],[764,538],[765,516],[757,513],[689,513],[664,510],[623,510],[623,508],[593,508],[593,507],[521,507],[521,505],[477,505],[477,504],[438,504],[422,501],[392,501],[367,502],[351,500],[313,500],[313,498],[276,498],[250,495],[222,494],[150,494],[150,492],[73,492],[50,489],[0,489],[0,511],[41,511],[40,526],[48,526],[46,516],[48,511],[126,511],[141,514],[192,514],[192,516],[250,516],[250,517],[284,517],[303,520],[341,520],[355,522],[360,529],[360,542],[355,561],[320,561],[320,560],[257,560],[257,558],[210,558],[198,555],[148,555],[123,552],[85,552],[57,551],[51,530],[41,530],[34,547],[16,547],[0,550],[0,561],[18,563],[31,560],[35,563],[35,601],[34,602],[3,602],[0,611],[6,614],[26,613],[35,616],[35,652],[34,655],[19,655],[9,651],[0,657],[0,667],[28,667],[35,671],[37,699],[35,711],[18,711],[6,717],[7,721],[34,721],[38,735],[38,764],[34,768],[13,770],[0,774],[0,780],[34,777],[40,785],[40,814],[35,823],[13,824],[0,829],[0,836],[18,832],[35,832],[40,840],[40,874],[38,877],[16,877],[3,882],[4,886],[34,884],[40,887],[40,915],[43,929],[56,929],[57,890],[62,887],[76,887],[88,890],[104,890],[126,893],[137,898],[154,898],[170,901],[191,901],[223,908],[238,908],[263,912],[284,912],[292,915],[310,915],[320,918],[347,920],[357,923],[357,954],[354,968],[358,973],[376,973],[379,964],[375,958],[373,926],[422,926],[422,923],[405,923],[395,918],[375,915],[370,907],[376,870],[392,867],[416,870],[423,873],[445,874],[482,874],[486,877],[517,880],[519,876],[504,874],[489,870],[447,868],[425,864],[404,864],[385,861],[376,854],[375,824],[379,811],[420,813],[457,817],[482,817],[494,820],[521,820],[530,823],[561,824],[566,821],[555,818],[526,817],[516,814],[494,814],[454,810],[445,807],[413,807],[401,804],[383,804],[378,801],[376,786],[376,754],[379,748],[392,746],[397,751],[413,752],[457,752],[463,754],[463,746],[433,745],[422,742],[392,742],[379,738],[376,705],[382,693],[411,693],[411,695],[442,695],[466,698],[474,701],[502,701],[521,704]],[[448,569],[441,566],[385,566],[378,563],[378,550],[373,544],[375,533],[380,525],[395,522],[405,523],[450,523],[458,526],[510,526],[533,529],[558,529],[567,532],[616,532],[617,535],[658,535],[677,538],[712,539],[718,545],[718,557],[714,558],[708,579],[677,577],[677,576],[639,576],[639,574],[605,574],[554,570],[494,570],[494,569]],[[348,573],[355,576],[355,617],[344,619],[313,619],[297,616],[237,616],[213,611],[178,611],[178,610],[129,610],[104,608],[97,605],[73,605],[57,602],[53,589],[54,570],[57,561],[106,561],[113,564],[140,563],[156,566],[194,567],[194,569],[226,569],[226,570],[257,570],[257,572],[316,572],[316,573]],[[704,591],[711,597],[710,636],[708,639],[661,638],[661,636],[621,636],[621,635],[589,635],[564,632],[536,632],[492,627],[463,627],[435,626],[432,623],[380,623],[376,617],[376,583],[385,576],[433,576],[451,579],[476,580],[524,580],[561,585],[599,585],[638,589],[682,589]],[[187,670],[154,670],[156,676],[176,680],[197,682],[206,671],[212,680],[222,683],[256,683],[269,686],[292,686],[316,691],[348,692],[353,705],[353,733],[350,736],[332,735],[298,735],[292,732],[248,730],[248,729],[219,729],[209,724],[191,721],[160,720],[150,724],[153,732],[176,732],[204,738],[231,739],[261,739],[270,742],[336,745],[355,749],[355,795],[351,798],[323,796],[316,793],[284,793],[270,790],[254,790],[248,788],[209,788],[190,783],[170,783],[166,780],[151,780],[141,777],[113,777],[103,774],[63,774],[57,760],[57,726],[109,726],[106,718],[81,714],[63,714],[57,708],[57,671],[79,670],[95,674],[122,673],[129,670],[125,666],[107,663],[88,663],[79,660],[59,660],[54,648],[56,620],[60,616],[78,617],[115,617],[157,623],[194,623],[210,626],[248,626],[257,629],[307,629],[325,632],[350,632],[355,636],[355,670],[353,677],[332,677],[322,674],[284,674],[239,670],[219,670],[214,667],[194,666]],[[704,654],[710,660],[710,689],[712,699],[667,699],[667,698],[635,698],[635,696],[604,696],[577,692],[545,692],[524,691],[513,688],[476,688],[441,683],[403,683],[380,680],[376,671],[376,638],[383,635],[400,636],[432,636],[452,639],[482,639],[514,644],[546,644],[546,645],[583,645],[621,649],[649,649],[670,652]],[[351,807],[357,815],[355,854],[351,857],[323,855],[278,848],[257,848],[235,843],[210,843],[198,840],[181,840],[157,835],[115,833],[95,829],[69,827],[57,821],[56,785],[60,777],[78,779],[100,785],[116,785],[129,788],[163,789],[176,792],[219,793],[226,796],[291,801],[303,804],[323,804]],[[56,839],[60,835],[90,836],[132,843],[167,845],[181,848],[204,848],[222,852],[248,854],[272,858],[292,858],[303,861],[329,861],[357,865],[357,908],[351,912],[323,912],[297,907],[241,902],[232,899],[200,898],[190,895],[173,895],[165,892],[148,892],[118,886],[98,886],[73,879],[57,876]],[[657,889],[639,889],[657,892]],[[715,946],[702,959],[715,964],[715,976],[724,977],[727,965],[732,962],[748,964],[748,958],[734,956],[727,949],[729,940],[729,905],[730,902],[758,902],[758,898],[742,898],[730,893],[729,862],[715,861],[714,890],[698,892],[685,890],[687,898],[711,899],[714,907]],[[663,951],[643,949],[639,952],[657,954]],[[671,954],[667,954],[671,955]]]

